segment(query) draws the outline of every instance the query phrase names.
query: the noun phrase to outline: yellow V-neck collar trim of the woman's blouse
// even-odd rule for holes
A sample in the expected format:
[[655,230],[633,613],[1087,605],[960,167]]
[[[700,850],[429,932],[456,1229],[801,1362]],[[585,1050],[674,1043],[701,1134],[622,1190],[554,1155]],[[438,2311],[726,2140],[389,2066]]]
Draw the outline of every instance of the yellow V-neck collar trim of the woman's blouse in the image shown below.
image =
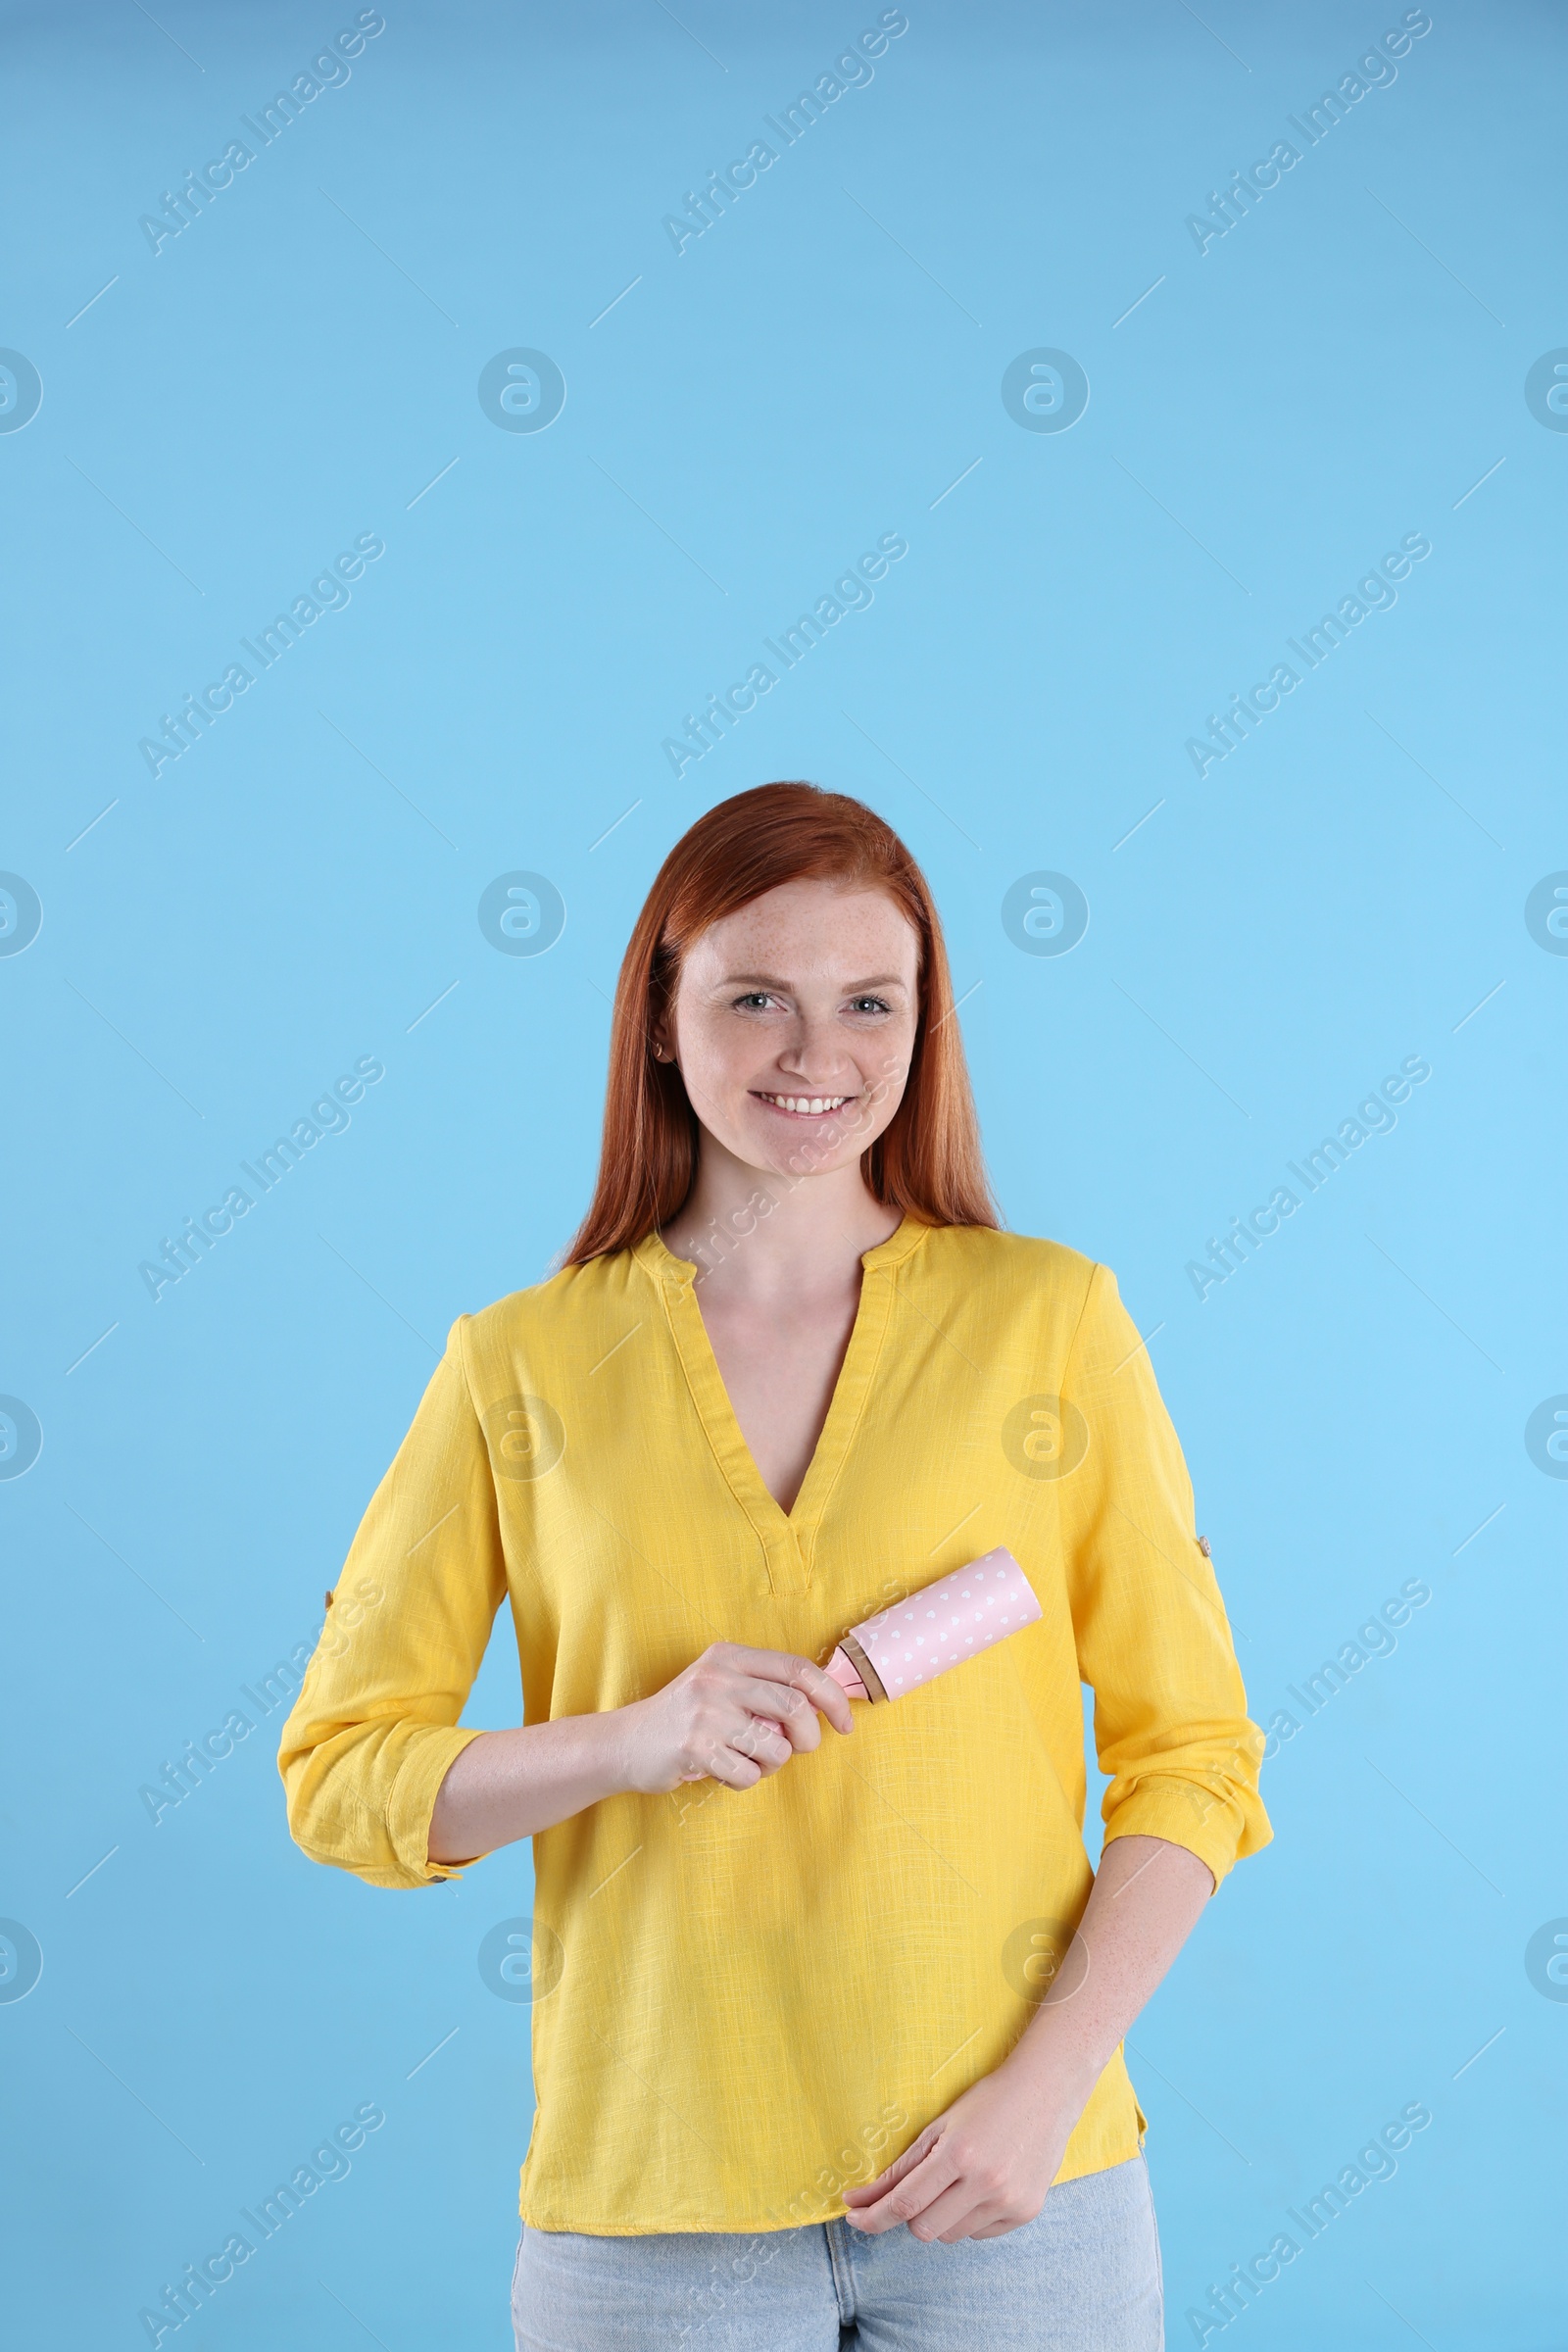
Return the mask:
[[785,1510],[769,1491],[762,1470],[752,1461],[752,1449],[741,1435],[741,1423],[729,1402],[724,1374],[719,1371],[708,1324],[696,1301],[696,1265],[691,1258],[677,1258],[658,1232],[649,1232],[632,1251],[663,1291],[670,1334],[686,1374],[691,1402],[729,1491],[757,1531],[773,1592],[806,1592],[811,1588],[816,1531],[844,1470],[844,1458],[870,1395],[893,1305],[893,1277],[898,1265],[919,1249],[929,1232],[926,1223],[905,1216],[886,1242],[877,1242],[875,1249],[860,1254],[863,1275],[856,1319],[827,1404],[827,1418],[823,1421],[792,1510]]

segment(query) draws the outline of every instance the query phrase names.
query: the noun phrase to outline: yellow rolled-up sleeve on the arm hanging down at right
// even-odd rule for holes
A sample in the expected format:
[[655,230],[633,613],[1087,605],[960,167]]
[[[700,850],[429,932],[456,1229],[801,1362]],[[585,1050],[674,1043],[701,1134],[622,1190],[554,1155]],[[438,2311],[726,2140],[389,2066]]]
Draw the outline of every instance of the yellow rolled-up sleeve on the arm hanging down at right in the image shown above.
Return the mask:
[[1274,1835],[1258,1795],[1262,1731],[1246,1715],[1150,1350],[1105,1265],[1088,1284],[1063,1404],[1063,1545],[1079,1672],[1095,1693],[1095,1750],[1110,1773],[1105,1842],[1171,1839],[1218,1884]]

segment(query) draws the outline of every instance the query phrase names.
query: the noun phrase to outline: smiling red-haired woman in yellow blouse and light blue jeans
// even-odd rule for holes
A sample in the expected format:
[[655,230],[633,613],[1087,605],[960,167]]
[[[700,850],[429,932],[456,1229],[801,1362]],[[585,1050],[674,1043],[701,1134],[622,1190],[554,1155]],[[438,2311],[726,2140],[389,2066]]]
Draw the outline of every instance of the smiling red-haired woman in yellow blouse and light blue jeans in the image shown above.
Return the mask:
[[[851,1712],[839,1632],[992,1545],[1039,1623]],[[458,1729],[503,1599],[524,1726]],[[1262,1738],[1147,1352],[997,1228],[860,802],[771,783],[665,858],[588,1218],[451,1327],[339,1611],[299,1844],[423,1886],[534,1839],[522,2352],[1161,2343],[1121,2037],[1269,1837]]]

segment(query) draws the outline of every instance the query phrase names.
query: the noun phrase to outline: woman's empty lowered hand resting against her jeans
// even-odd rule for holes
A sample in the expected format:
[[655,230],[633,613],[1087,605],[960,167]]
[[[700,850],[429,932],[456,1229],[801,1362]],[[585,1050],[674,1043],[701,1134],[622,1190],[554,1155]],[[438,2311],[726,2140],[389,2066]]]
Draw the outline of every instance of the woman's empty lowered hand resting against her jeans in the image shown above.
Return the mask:
[[865,2232],[910,2225],[910,2237],[1001,2237],[1034,2220],[1060,2171],[1088,2089],[1063,2096],[1037,2070],[1004,2060],[971,2084],[905,2152],[844,2190],[849,2220]]

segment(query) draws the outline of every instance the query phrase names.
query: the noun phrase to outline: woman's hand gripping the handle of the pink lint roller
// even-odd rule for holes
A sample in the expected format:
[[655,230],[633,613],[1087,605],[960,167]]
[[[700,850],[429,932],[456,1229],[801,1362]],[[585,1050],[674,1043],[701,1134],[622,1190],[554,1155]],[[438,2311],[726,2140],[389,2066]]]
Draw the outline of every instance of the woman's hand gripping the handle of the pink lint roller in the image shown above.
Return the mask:
[[703,1778],[755,1788],[820,1745],[818,1710],[853,1731],[846,1693],[811,1658],[710,1642],[663,1691],[618,1710],[623,1785],[644,1797]]

